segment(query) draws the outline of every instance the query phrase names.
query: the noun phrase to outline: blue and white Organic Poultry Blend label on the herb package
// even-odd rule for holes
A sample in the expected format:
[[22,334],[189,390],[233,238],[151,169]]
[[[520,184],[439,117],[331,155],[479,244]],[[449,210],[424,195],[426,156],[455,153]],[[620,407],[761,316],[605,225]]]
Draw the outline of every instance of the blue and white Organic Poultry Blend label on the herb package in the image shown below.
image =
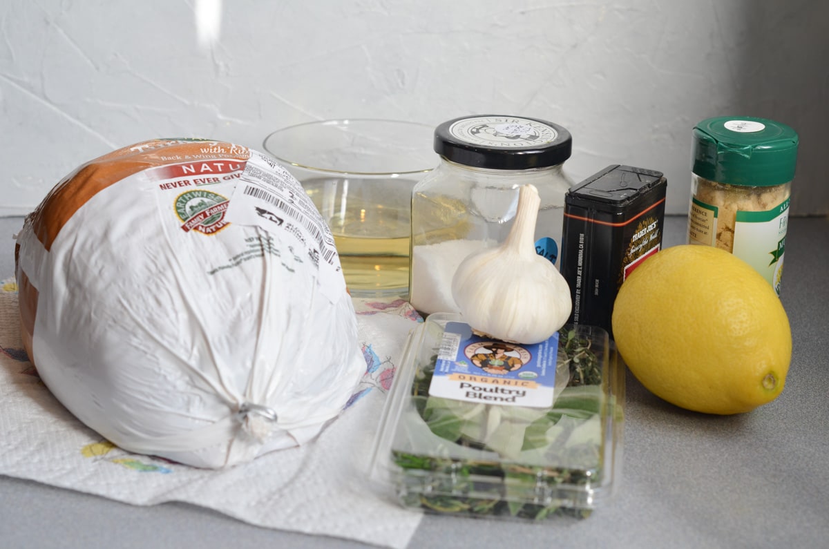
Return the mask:
[[429,395],[481,404],[550,407],[555,400],[558,348],[558,333],[545,342],[521,345],[480,337],[467,323],[447,323]]

